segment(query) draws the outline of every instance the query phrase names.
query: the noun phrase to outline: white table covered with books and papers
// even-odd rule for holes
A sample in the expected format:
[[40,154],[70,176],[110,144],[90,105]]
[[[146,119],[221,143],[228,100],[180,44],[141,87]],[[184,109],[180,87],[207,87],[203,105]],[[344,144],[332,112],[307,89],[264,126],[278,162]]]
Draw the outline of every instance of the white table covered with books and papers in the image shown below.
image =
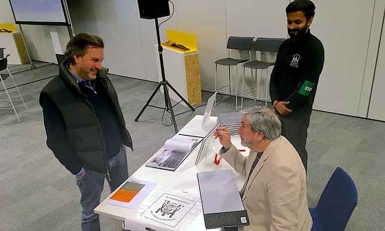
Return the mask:
[[[202,119],[203,119],[203,116],[199,116],[199,115],[195,116],[185,127],[181,129],[181,131],[179,131],[179,133],[186,134],[186,135],[199,135],[200,133],[201,135],[202,133],[204,133],[203,130],[201,129]],[[216,119],[216,118],[212,117],[212,119]],[[194,132],[194,134],[192,134],[191,132]],[[238,148],[246,149],[247,151],[242,154],[245,156],[248,155],[249,149],[244,148],[240,145],[239,136],[232,136],[231,142]],[[216,148],[215,150],[219,150],[222,147],[218,140],[216,140],[214,146]],[[245,180],[244,177],[240,176],[237,172],[235,172],[233,168],[229,166],[226,163],[226,161],[224,161],[223,159],[221,160],[219,165],[215,165],[213,163],[214,153],[211,153],[210,155],[208,155],[197,166],[194,165],[195,159],[198,155],[199,148],[200,148],[200,145],[198,145],[192,151],[192,153],[183,161],[183,163],[174,172],[146,167],[145,166],[147,163],[146,162],[132,176],[130,176],[129,179],[133,178],[133,179],[142,179],[146,181],[156,182],[158,185],[155,188],[155,190],[158,187],[166,187],[166,188],[172,189],[174,192],[192,192],[192,193],[196,193],[199,196],[199,187],[198,187],[198,180],[196,175],[198,172],[231,169],[233,171],[238,189],[240,190]],[[153,157],[151,157],[150,159],[152,158]],[[117,191],[117,189],[115,191]],[[163,225],[155,221],[152,221],[150,219],[141,217],[142,211],[140,211],[138,208],[128,209],[128,208],[123,208],[123,207],[118,207],[115,205],[108,204],[107,200],[113,193],[115,193],[115,191],[112,192],[105,200],[103,200],[94,209],[95,213],[104,214],[119,220],[124,220],[125,218],[127,218],[128,220],[132,221],[133,226],[130,227],[132,231],[146,231],[145,228],[146,227],[151,228],[152,225],[156,225],[158,227],[167,227],[167,230],[179,230],[178,225],[176,226],[176,228],[171,228],[171,227],[168,227],[167,225]],[[143,202],[145,202],[146,199],[150,197],[150,195],[146,197]],[[191,223],[191,226],[189,227],[188,230],[191,230],[191,231],[206,230],[204,225],[204,220],[203,220],[203,213],[201,213]],[[211,230],[219,230],[219,229],[211,229]]]

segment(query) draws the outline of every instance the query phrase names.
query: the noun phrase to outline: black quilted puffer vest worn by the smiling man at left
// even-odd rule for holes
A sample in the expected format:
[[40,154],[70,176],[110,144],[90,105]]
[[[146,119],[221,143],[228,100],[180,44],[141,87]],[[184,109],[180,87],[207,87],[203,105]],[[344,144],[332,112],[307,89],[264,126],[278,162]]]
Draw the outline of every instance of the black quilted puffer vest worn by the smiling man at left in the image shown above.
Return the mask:
[[[106,147],[100,123],[95,109],[82,93],[78,83],[68,72],[65,60],[59,65],[59,76],[52,79],[42,90],[58,107],[62,114],[67,131],[67,139],[74,153],[86,169],[100,173],[107,173],[109,177]],[[125,122],[121,112],[117,94],[107,77],[107,68],[98,71],[96,81],[107,92],[106,96],[113,102],[122,143],[133,149],[130,133],[125,129]]]

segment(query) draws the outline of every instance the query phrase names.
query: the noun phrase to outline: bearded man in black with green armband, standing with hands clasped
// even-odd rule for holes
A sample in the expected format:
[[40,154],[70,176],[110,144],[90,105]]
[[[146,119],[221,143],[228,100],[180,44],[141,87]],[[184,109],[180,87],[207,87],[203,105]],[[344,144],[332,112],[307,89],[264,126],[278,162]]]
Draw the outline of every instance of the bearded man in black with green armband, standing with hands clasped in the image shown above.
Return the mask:
[[315,6],[295,0],[286,8],[287,39],[280,47],[270,79],[270,96],[282,123],[282,135],[297,149],[307,169],[307,129],[325,52],[310,33]]

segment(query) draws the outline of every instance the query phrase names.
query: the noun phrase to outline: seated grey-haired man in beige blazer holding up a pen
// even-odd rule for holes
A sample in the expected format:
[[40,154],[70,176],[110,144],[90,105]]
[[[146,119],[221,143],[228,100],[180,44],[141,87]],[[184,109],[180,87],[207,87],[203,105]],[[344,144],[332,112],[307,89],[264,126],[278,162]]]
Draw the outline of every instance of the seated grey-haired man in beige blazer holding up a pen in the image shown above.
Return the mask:
[[[246,177],[240,195],[250,225],[239,230],[309,231],[312,218],[306,197],[306,173],[296,149],[281,134],[281,122],[272,109],[246,109],[238,129],[248,157],[231,144],[230,131],[219,128],[219,154]],[[225,230],[237,230],[226,228]]]

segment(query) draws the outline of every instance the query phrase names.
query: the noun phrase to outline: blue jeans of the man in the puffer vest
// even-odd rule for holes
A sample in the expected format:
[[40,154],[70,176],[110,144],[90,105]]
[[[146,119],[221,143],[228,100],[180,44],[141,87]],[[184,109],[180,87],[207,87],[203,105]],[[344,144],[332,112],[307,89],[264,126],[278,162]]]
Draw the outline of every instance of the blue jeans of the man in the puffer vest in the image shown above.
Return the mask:
[[[120,184],[129,178],[127,157],[124,145],[121,145],[119,153],[108,160],[111,182],[109,189],[113,192]],[[81,215],[82,231],[100,231],[99,214],[93,209],[100,203],[100,195],[103,191],[106,174],[85,169],[83,177],[76,176],[76,184],[80,189],[80,203],[83,207]]]

